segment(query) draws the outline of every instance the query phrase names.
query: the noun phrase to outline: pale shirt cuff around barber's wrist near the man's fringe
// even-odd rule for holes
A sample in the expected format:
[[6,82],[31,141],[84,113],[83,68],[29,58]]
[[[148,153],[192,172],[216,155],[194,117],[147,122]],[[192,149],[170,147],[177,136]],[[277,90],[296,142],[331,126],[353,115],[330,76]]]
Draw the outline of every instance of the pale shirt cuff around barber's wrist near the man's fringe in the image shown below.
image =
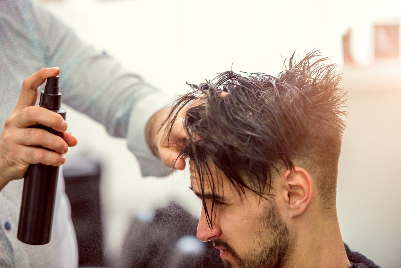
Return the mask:
[[137,102],[132,109],[128,123],[127,145],[140,164],[142,176],[164,177],[173,169],[165,166],[153,155],[145,137],[145,128],[149,119],[160,109],[171,104],[176,96],[166,93],[152,93]]

